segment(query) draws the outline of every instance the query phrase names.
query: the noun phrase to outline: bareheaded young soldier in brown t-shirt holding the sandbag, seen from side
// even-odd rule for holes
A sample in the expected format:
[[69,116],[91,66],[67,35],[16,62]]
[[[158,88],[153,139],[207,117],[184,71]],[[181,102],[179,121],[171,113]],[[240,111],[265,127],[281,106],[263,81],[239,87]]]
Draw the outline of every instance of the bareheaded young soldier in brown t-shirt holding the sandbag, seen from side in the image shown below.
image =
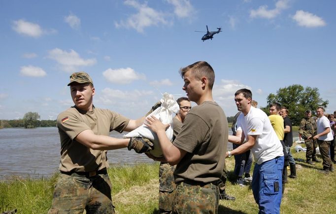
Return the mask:
[[192,107],[180,133],[171,143],[168,127],[155,117],[146,118],[148,127],[159,138],[163,154],[170,165],[176,165],[176,193],[173,213],[218,213],[219,188],[228,142],[228,122],[223,109],[212,98],[214,71],[206,62],[196,62],[180,71],[182,89]]

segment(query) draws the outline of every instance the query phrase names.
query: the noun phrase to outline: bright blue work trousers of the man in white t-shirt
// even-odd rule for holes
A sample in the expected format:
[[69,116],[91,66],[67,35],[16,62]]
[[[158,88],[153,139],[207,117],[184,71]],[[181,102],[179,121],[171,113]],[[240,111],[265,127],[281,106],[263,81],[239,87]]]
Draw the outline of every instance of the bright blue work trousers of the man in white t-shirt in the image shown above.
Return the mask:
[[281,156],[254,166],[252,191],[259,214],[280,214],[283,163]]

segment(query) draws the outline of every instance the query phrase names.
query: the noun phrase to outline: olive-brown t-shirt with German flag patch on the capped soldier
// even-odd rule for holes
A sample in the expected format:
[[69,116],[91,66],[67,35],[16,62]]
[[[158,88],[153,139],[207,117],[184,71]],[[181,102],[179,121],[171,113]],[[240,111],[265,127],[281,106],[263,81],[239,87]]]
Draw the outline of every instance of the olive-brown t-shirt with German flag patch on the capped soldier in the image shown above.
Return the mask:
[[61,161],[63,172],[91,172],[108,167],[107,151],[93,150],[74,140],[84,130],[91,129],[95,135],[109,136],[112,130],[121,133],[130,119],[108,109],[95,108],[83,111],[70,107],[57,117],[61,140]]

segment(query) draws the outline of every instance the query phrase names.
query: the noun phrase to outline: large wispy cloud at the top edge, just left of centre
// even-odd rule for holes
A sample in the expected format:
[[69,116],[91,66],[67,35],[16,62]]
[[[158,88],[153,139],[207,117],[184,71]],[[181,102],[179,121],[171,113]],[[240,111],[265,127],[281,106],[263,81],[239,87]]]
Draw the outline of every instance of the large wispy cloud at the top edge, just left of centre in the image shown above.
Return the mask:
[[137,32],[143,33],[144,28],[159,24],[169,24],[165,19],[166,15],[164,13],[156,11],[147,6],[146,3],[140,4],[136,0],[125,0],[124,3],[134,7],[137,13],[131,15],[126,21],[115,22],[116,28],[134,28]]

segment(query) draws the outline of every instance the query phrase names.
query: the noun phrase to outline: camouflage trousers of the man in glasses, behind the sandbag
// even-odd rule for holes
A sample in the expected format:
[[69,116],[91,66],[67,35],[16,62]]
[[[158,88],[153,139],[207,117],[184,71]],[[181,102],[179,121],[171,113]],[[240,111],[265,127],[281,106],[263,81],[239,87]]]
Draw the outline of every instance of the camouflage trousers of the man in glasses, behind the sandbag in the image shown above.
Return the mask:
[[159,181],[159,211],[160,214],[170,214],[174,201],[173,190],[175,189],[174,182],[175,166],[170,166],[168,163],[160,163]]

